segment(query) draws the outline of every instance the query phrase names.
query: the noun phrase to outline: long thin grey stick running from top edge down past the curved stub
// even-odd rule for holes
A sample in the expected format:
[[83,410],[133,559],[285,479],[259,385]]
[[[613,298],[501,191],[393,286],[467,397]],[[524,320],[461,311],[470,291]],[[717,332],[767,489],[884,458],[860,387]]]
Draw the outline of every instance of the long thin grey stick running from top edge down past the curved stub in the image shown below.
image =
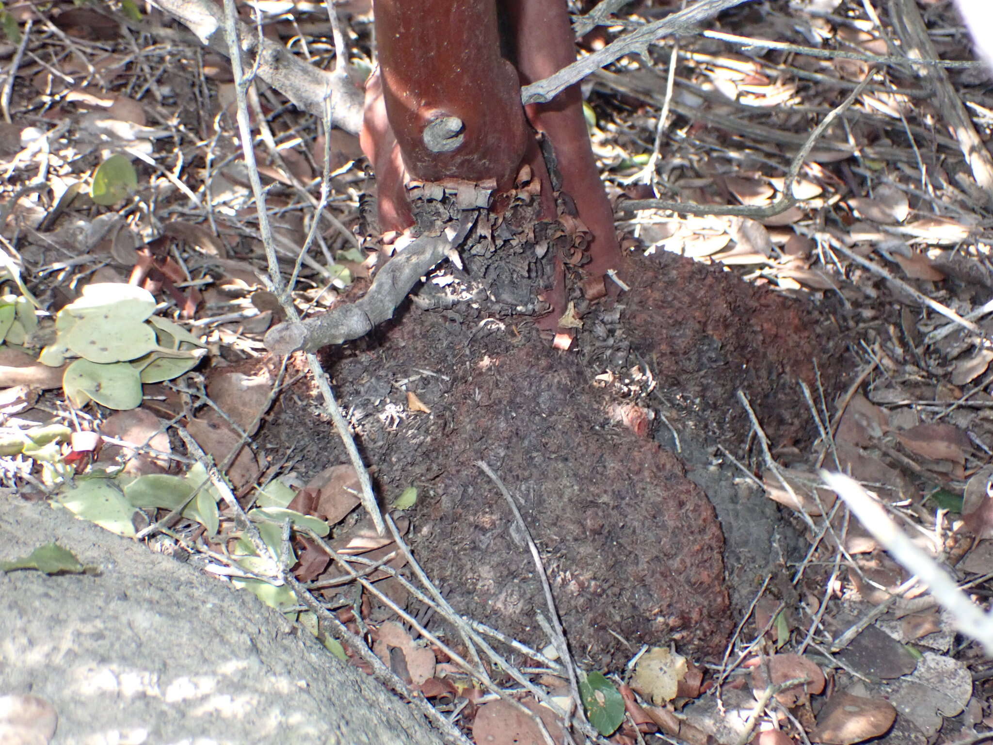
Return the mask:
[[[228,49],[232,51],[230,57],[231,72],[237,83],[234,86],[234,92],[237,99],[236,113],[238,133],[241,138],[241,151],[244,154],[245,166],[248,168],[248,181],[251,184],[252,194],[255,197],[255,210],[258,214],[259,232],[262,236],[262,244],[265,247],[266,260],[269,264],[270,289],[276,297],[281,298],[281,306],[283,311],[286,313],[286,317],[292,322],[299,322],[299,316],[296,308],[293,306],[293,303],[289,300],[289,298],[284,298],[283,295],[283,282],[279,273],[279,262],[276,258],[275,242],[272,237],[272,227],[269,224],[269,213],[265,207],[265,194],[262,191],[262,181],[259,178],[258,166],[255,163],[255,151],[251,146],[253,140],[251,136],[251,128],[248,122],[248,101],[246,95],[248,85],[251,84],[251,78],[250,76],[244,74],[241,65],[236,18],[237,12],[234,8],[234,0],[224,0],[224,35],[227,41]],[[342,414],[342,409],[339,407],[338,401],[335,399],[335,395],[331,390],[331,385],[326,379],[326,374],[321,368],[321,364],[318,362],[317,356],[313,354],[308,355],[307,363],[310,366],[311,372],[314,374],[314,378],[318,384],[318,388],[321,390],[321,394],[324,397],[325,406],[331,414],[332,420],[335,422],[335,428],[338,430],[338,434],[342,438],[342,442],[345,445],[345,450],[349,454],[349,460],[355,468],[355,474],[358,476],[358,483],[362,488],[360,497],[362,507],[372,519],[372,523],[375,525],[376,531],[382,535],[385,533],[386,528],[382,522],[382,515],[379,512],[379,506],[376,503],[375,494],[372,491],[372,480],[369,478],[368,471],[365,469],[361,456],[358,454],[358,448],[355,447],[355,439],[352,437],[352,432],[349,428],[348,422],[345,421],[345,416]]]

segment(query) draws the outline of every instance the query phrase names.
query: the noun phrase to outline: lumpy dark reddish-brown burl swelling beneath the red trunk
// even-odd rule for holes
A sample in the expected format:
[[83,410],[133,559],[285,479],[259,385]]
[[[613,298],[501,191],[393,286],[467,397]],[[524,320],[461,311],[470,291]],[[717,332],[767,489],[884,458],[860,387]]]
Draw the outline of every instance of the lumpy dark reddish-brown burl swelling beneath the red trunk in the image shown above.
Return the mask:
[[[680,457],[651,439],[644,417],[658,401],[646,395],[645,370],[687,448],[716,435],[741,449],[749,425],[739,388],[776,442],[802,439],[810,420],[795,375],[809,379],[818,360],[837,380],[810,307],[671,254],[638,259],[629,273],[632,292],[587,314],[579,354],[549,349],[529,320],[462,303],[411,307],[325,361],[384,501],[418,488],[410,541],[453,606],[532,645],[547,641],[534,566],[483,460],[539,546],[574,653],[602,666],[641,643],[716,653],[732,625],[717,514]],[[431,413],[410,412],[406,391]],[[316,404],[296,400],[283,397],[268,442],[292,443],[315,469],[344,462]],[[699,450],[683,457],[706,460]],[[762,497],[765,509],[743,509],[741,496],[725,496],[733,532],[752,542],[752,560],[768,561],[769,538],[756,546],[755,537],[772,535],[776,511]],[[734,568],[741,577],[750,567]]]

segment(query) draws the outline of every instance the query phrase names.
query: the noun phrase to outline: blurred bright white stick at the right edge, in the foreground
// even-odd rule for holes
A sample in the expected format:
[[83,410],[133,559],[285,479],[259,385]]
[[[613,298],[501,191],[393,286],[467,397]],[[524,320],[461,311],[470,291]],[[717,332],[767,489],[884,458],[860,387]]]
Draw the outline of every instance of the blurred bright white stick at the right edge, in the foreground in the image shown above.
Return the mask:
[[979,642],[987,655],[993,655],[993,617],[969,600],[944,570],[897,527],[886,510],[857,481],[823,470],[820,476],[845,501],[873,537],[927,585],[931,595],[951,614],[956,628]]

